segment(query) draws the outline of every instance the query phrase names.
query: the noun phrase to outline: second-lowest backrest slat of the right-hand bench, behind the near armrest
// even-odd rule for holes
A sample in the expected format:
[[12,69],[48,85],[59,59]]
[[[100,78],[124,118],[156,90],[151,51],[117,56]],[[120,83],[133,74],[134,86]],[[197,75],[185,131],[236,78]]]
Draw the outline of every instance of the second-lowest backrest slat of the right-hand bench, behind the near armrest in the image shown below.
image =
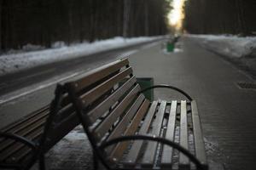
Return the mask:
[[[122,133],[125,132],[125,129],[128,127],[129,123],[131,122],[131,118],[137,113],[144,99],[145,99],[145,96],[143,94],[140,94],[140,96],[133,103],[133,105],[131,105],[131,108],[129,109],[129,111],[127,111],[125,116],[122,118],[122,120],[119,121],[118,126],[113,129],[113,132],[109,135],[108,140],[117,138],[121,136]],[[108,147],[108,153],[111,150],[113,150],[113,147],[114,145]]]

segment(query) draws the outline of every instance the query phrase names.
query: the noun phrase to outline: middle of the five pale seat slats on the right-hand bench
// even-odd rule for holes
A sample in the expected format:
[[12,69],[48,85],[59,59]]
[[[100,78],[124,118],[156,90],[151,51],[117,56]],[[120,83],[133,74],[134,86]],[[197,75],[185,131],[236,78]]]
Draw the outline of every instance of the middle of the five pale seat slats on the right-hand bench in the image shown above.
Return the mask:
[[[174,141],[175,134],[175,122],[176,122],[176,113],[177,113],[177,101],[172,101],[170,114],[168,117],[167,130],[166,130],[166,139]],[[161,157],[161,167],[171,168],[172,167],[172,147],[164,145],[163,153]]]

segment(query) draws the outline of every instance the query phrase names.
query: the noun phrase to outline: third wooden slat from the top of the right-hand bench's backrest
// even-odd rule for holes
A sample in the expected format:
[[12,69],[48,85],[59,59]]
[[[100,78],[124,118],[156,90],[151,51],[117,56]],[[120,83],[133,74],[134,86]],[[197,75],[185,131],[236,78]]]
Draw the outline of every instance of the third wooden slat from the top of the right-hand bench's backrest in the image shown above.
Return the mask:
[[96,106],[92,111],[88,112],[86,115],[88,117],[88,122],[96,122],[102,114],[107,111],[111,105],[113,105],[118,99],[125,94],[125,92],[131,88],[131,86],[136,82],[135,77],[131,77],[130,80],[125,82],[119,89],[117,89],[113,94],[108,96],[107,99],[104,99],[102,103]]

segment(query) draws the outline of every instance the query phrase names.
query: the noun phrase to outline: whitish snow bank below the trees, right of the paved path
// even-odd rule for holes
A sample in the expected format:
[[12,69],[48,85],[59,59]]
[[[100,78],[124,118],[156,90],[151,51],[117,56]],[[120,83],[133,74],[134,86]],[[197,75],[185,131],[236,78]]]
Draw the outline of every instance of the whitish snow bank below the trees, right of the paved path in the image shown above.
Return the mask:
[[256,57],[256,37],[189,35],[205,47],[227,57]]

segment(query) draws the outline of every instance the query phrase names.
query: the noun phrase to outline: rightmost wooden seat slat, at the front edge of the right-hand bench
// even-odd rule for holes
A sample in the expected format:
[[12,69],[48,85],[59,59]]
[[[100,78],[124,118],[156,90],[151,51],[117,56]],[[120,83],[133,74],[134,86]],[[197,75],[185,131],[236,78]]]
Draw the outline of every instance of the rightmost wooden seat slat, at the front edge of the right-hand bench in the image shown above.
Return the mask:
[[191,101],[192,109],[192,122],[193,122],[193,132],[195,141],[195,156],[204,167],[207,167],[207,156],[205,150],[205,143],[202,137],[201,122],[197,110],[197,105],[195,100]]

